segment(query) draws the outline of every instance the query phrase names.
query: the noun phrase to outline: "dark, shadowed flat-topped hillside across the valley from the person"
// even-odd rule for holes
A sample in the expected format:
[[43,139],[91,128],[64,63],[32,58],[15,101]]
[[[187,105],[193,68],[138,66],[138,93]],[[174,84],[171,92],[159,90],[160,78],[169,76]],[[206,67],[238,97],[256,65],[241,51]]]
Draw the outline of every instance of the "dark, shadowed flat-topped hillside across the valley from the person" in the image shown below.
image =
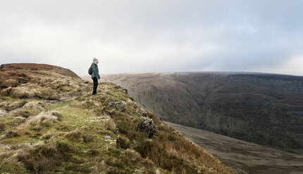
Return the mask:
[[303,77],[180,72],[101,76],[163,120],[293,152],[303,151]]

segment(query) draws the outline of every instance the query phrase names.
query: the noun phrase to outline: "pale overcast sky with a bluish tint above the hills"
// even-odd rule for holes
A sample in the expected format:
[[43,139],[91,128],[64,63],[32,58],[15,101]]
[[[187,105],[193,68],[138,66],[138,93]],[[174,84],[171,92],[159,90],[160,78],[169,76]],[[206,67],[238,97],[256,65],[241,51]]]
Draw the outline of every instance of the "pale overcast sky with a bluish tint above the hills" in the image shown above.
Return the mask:
[[0,0],[0,64],[303,76],[303,1]]

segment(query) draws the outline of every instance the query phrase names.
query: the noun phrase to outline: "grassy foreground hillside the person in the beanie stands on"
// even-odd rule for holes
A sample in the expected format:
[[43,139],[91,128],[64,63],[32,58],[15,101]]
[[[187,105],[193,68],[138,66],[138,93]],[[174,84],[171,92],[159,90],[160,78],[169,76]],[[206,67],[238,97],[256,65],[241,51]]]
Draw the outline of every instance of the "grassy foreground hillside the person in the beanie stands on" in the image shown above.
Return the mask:
[[[234,173],[113,83],[0,68],[0,173]],[[152,119],[152,120],[151,120]]]

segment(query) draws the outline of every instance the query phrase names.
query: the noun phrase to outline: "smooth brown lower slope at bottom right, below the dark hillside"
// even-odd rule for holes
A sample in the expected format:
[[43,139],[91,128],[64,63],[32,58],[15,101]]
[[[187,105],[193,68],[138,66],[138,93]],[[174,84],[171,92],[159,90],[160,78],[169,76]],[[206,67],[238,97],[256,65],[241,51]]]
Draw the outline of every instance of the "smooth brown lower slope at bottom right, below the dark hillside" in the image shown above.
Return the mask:
[[292,154],[174,123],[168,125],[216,156],[237,173],[303,173],[302,154]]

